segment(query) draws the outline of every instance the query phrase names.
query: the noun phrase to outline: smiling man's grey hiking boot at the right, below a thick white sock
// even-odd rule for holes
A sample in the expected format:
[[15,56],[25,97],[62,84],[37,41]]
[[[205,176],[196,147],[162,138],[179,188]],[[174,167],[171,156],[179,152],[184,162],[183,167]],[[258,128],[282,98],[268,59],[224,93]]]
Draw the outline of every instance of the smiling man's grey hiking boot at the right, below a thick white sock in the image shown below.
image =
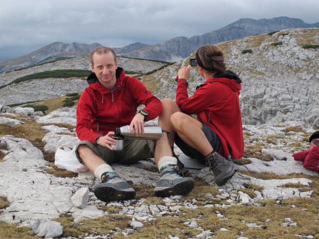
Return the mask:
[[193,190],[194,185],[194,179],[184,178],[176,164],[168,164],[160,170],[160,180],[156,184],[154,194],[162,198],[171,195],[185,195]]

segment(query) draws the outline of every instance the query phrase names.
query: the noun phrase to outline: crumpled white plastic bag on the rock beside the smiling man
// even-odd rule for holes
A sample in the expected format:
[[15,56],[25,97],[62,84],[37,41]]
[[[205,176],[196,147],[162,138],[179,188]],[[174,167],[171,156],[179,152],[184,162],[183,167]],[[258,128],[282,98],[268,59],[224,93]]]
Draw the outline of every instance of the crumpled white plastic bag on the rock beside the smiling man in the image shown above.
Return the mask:
[[68,147],[58,148],[55,152],[54,164],[60,168],[75,173],[85,172],[88,168],[81,164],[75,156],[75,147],[71,150]]

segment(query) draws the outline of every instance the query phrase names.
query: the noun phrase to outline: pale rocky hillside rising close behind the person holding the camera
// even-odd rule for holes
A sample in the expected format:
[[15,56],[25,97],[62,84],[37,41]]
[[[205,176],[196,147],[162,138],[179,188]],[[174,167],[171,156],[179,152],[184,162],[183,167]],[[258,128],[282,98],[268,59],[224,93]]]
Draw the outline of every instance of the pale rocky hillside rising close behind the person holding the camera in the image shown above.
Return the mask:
[[[315,70],[319,68],[318,36],[319,28],[295,28],[217,44],[225,53],[228,69],[243,81],[243,123],[297,120],[319,129],[319,74]],[[192,53],[172,66],[143,76],[141,81],[160,99],[175,99],[177,71],[194,56]],[[189,96],[203,82],[193,67]]]

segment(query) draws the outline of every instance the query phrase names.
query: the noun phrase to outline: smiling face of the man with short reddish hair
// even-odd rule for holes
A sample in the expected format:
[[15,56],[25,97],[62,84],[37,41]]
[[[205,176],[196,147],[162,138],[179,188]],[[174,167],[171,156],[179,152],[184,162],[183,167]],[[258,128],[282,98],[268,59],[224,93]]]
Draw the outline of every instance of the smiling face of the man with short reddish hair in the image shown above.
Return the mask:
[[112,52],[102,53],[100,55],[93,55],[94,65],[91,65],[92,72],[94,72],[100,83],[106,88],[115,86],[116,77],[115,71],[118,68],[117,61],[114,60]]

